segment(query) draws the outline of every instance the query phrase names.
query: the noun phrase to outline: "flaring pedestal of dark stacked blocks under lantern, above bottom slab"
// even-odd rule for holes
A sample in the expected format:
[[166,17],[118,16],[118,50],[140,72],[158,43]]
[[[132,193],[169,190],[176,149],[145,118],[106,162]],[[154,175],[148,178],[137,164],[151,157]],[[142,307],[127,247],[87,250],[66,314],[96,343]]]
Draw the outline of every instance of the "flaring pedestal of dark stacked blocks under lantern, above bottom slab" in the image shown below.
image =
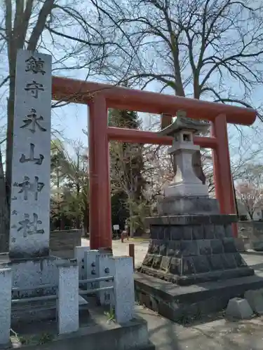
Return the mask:
[[250,276],[236,250],[234,215],[187,215],[149,218],[151,243],[141,272],[180,286]]

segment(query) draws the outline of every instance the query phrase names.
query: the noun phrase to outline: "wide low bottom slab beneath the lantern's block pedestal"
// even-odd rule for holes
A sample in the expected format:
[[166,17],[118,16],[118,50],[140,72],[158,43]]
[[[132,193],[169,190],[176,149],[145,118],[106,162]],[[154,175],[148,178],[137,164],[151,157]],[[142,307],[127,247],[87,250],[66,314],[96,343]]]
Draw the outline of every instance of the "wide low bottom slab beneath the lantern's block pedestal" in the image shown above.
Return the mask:
[[222,311],[231,298],[246,290],[262,288],[262,276],[245,276],[224,281],[177,286],[153,276],[135,273],[135,295],[140,304],[175,322]]

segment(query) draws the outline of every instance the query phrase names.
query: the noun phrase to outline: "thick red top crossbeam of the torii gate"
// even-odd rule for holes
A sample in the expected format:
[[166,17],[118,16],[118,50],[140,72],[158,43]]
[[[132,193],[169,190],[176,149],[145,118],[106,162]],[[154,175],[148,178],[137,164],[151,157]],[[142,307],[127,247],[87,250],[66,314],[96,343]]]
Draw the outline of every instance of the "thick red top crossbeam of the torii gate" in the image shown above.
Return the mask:
[[91,83],[83,80],[53,76],[53,99],[67,99],[70,102],[90,104],[93,94],[102,94],[108,108],[128,109],[147,113],[166,113],[175,116],[177,110],[187,112],[187,117],[213,122],[224,114],[227,123],[252,125],[256,119],[254,109],[227,104],[215,104],[198,99],[189,99],[157,92],[133,90],[128,87]]

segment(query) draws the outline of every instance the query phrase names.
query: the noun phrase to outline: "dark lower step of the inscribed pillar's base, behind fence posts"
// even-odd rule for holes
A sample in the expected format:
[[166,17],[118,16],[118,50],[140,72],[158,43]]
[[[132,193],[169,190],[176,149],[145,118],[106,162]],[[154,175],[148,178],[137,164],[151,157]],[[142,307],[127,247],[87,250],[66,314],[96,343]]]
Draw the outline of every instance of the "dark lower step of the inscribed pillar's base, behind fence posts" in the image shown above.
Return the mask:
[[[88,315],[88,302],[79,295],[79,316]],[[57,300],[37,300],[12,304],[11,324],[31,323],[34,321],[55,320],[57,317]]]

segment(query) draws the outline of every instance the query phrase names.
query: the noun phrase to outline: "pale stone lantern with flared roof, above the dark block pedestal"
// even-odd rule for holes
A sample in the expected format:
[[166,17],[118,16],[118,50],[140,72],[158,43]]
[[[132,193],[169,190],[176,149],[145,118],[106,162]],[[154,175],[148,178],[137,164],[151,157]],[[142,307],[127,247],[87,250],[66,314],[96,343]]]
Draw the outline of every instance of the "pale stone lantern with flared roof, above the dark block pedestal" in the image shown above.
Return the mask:
[[163,188],[164,197],[158,198],[160,215],[219,213],[218,201],[208,197],[208,186],[194,171],[194,154],[200,151],[200,146],[194,144],[194,135],[207,132],[208,126],[208,123],[180,116],[159,132],[173,137],[168,153],[175,172],[173,182]]

